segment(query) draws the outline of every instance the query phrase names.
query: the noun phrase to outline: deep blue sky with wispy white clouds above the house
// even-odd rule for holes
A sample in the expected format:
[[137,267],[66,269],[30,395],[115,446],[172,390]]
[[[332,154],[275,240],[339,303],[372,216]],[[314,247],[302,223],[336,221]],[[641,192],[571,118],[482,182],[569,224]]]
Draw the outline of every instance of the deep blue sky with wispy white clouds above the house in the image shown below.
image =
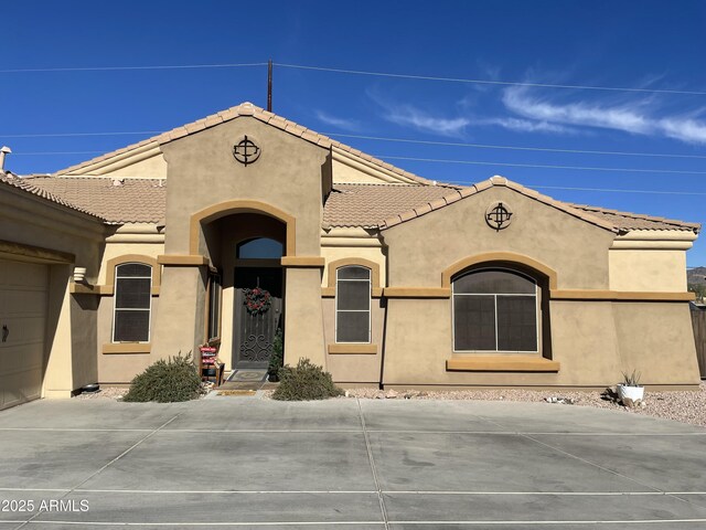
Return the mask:
[[[271,57],[276,113],[420,176],[503,174],[569,202],[706,223],[700,0],[23,0],[6,2],[1,20],[0,144],[18,173],[52,172],[244,100],[266,105],[265,66],[28,70]],[[74,134],[88,136],[36,136]],[[706,265],[706,239],[687,261]]]

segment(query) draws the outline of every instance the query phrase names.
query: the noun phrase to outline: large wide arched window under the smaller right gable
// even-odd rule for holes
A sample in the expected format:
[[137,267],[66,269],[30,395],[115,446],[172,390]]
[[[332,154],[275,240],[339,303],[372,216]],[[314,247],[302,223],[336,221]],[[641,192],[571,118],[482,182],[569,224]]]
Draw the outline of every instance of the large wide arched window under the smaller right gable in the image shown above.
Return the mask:
[[485,268],[457,276],[453,350],[538,352],[537,283],[515,271]]

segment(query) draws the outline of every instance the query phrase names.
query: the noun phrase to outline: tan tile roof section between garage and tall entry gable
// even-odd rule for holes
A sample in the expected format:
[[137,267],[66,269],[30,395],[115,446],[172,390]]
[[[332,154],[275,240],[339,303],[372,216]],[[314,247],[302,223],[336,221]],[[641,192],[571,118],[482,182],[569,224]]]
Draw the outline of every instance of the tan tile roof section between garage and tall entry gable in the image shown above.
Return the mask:
[[[163,180],[97,177],[32,177],[23,183],[57,197],[108,224],[157,223],[167,211]],[[118,184],[118,186],[116,186]]]

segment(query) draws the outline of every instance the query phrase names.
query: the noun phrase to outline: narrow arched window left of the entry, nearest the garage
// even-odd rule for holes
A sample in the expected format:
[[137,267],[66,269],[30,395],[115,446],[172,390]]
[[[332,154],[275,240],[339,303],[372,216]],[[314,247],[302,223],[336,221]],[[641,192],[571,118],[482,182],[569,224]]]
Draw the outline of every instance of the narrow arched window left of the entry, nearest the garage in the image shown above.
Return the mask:
[[122,263],[115,267],[114,342],[149,342],[152,267]]

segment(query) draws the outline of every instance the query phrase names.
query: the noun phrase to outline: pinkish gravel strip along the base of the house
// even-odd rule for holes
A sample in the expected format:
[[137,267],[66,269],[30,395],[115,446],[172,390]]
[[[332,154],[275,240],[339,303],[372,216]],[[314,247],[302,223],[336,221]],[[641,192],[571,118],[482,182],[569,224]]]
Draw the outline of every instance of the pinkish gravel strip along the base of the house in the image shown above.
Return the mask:
[[[125,388],[106,388],[98,392],[84,393],[78,400],[110,399],[119,400],[125,395]],[[269,399],[272,391],[263,391],[260,395]],[[702,381],[699,390],[688,392],[650,392],[645,391],[642,406],[628,409],[606,399],[601,392],[578,392],[558,390],[458,390],[458,391],[381,391],[376,389],[350,389],[345,399],[378,400],[481,400],[481,401],[524,401],[543,402],[547,406],[595,406],[597,409],[622,410],[627,414],[644,414],[648,416],[674,420],[706,427],[706,381]]]

